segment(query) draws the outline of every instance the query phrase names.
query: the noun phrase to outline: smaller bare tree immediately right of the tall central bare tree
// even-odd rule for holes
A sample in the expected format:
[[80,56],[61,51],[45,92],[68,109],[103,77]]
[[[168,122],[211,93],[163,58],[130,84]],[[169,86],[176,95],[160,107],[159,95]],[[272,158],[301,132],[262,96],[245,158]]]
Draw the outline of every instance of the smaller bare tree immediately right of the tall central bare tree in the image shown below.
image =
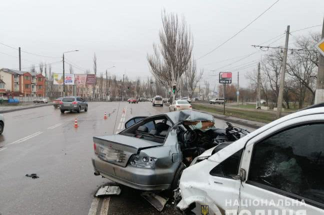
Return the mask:
[[203,69],[200,70],[199,74],[197,74],[197,67],[195,60],[190,61],[190,66],[185,71],[185,83],[188,89],[189,97],[192,97],[192,92],[197,86],[197,83],[202,77]]

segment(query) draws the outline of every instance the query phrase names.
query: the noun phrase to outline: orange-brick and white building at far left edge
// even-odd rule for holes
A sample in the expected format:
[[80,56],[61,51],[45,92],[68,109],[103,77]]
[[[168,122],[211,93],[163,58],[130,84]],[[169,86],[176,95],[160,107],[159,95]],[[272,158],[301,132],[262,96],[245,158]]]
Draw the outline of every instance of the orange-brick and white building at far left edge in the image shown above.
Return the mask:
[[45,77],[36,72],[0,69],[0,96],[45,96]]

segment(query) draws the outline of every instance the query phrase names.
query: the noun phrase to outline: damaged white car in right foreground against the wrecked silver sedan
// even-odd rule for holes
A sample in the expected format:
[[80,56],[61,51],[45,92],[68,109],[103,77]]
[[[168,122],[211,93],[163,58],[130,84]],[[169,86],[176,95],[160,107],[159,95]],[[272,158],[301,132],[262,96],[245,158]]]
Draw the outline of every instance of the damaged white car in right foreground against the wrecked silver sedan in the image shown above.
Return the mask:
[[[177,207],[189,212],[208,205],[209,214],[324,214],[323,130],[321,103],[272,121],[220,150],[206,150],[182,172]],[[239,204],[233,204],[237,199]]]

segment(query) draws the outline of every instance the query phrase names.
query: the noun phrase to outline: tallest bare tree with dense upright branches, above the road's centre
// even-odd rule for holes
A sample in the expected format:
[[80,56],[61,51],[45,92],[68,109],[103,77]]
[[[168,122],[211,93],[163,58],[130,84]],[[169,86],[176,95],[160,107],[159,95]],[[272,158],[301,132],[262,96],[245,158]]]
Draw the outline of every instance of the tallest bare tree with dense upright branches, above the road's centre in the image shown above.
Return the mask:
[[192,52],[192,36],[187,29],[184,16],[181,22],[174,13],[161,14],[162,29],[159,31],[160,44],[153,44],[153,53],[147,54],[150,72],[162,85],[171,88],[173,80],[187,70]]

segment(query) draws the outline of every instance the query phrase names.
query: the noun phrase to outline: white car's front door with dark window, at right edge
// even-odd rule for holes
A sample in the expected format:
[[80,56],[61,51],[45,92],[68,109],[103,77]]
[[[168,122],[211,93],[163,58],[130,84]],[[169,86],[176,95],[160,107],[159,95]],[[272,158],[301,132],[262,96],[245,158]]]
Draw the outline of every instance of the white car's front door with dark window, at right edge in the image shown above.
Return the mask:
[[251,138],[242,159],[241,168],[248,173],[240,187],[239,210],[324,214],[323,130],[324,115],[313,114]]

